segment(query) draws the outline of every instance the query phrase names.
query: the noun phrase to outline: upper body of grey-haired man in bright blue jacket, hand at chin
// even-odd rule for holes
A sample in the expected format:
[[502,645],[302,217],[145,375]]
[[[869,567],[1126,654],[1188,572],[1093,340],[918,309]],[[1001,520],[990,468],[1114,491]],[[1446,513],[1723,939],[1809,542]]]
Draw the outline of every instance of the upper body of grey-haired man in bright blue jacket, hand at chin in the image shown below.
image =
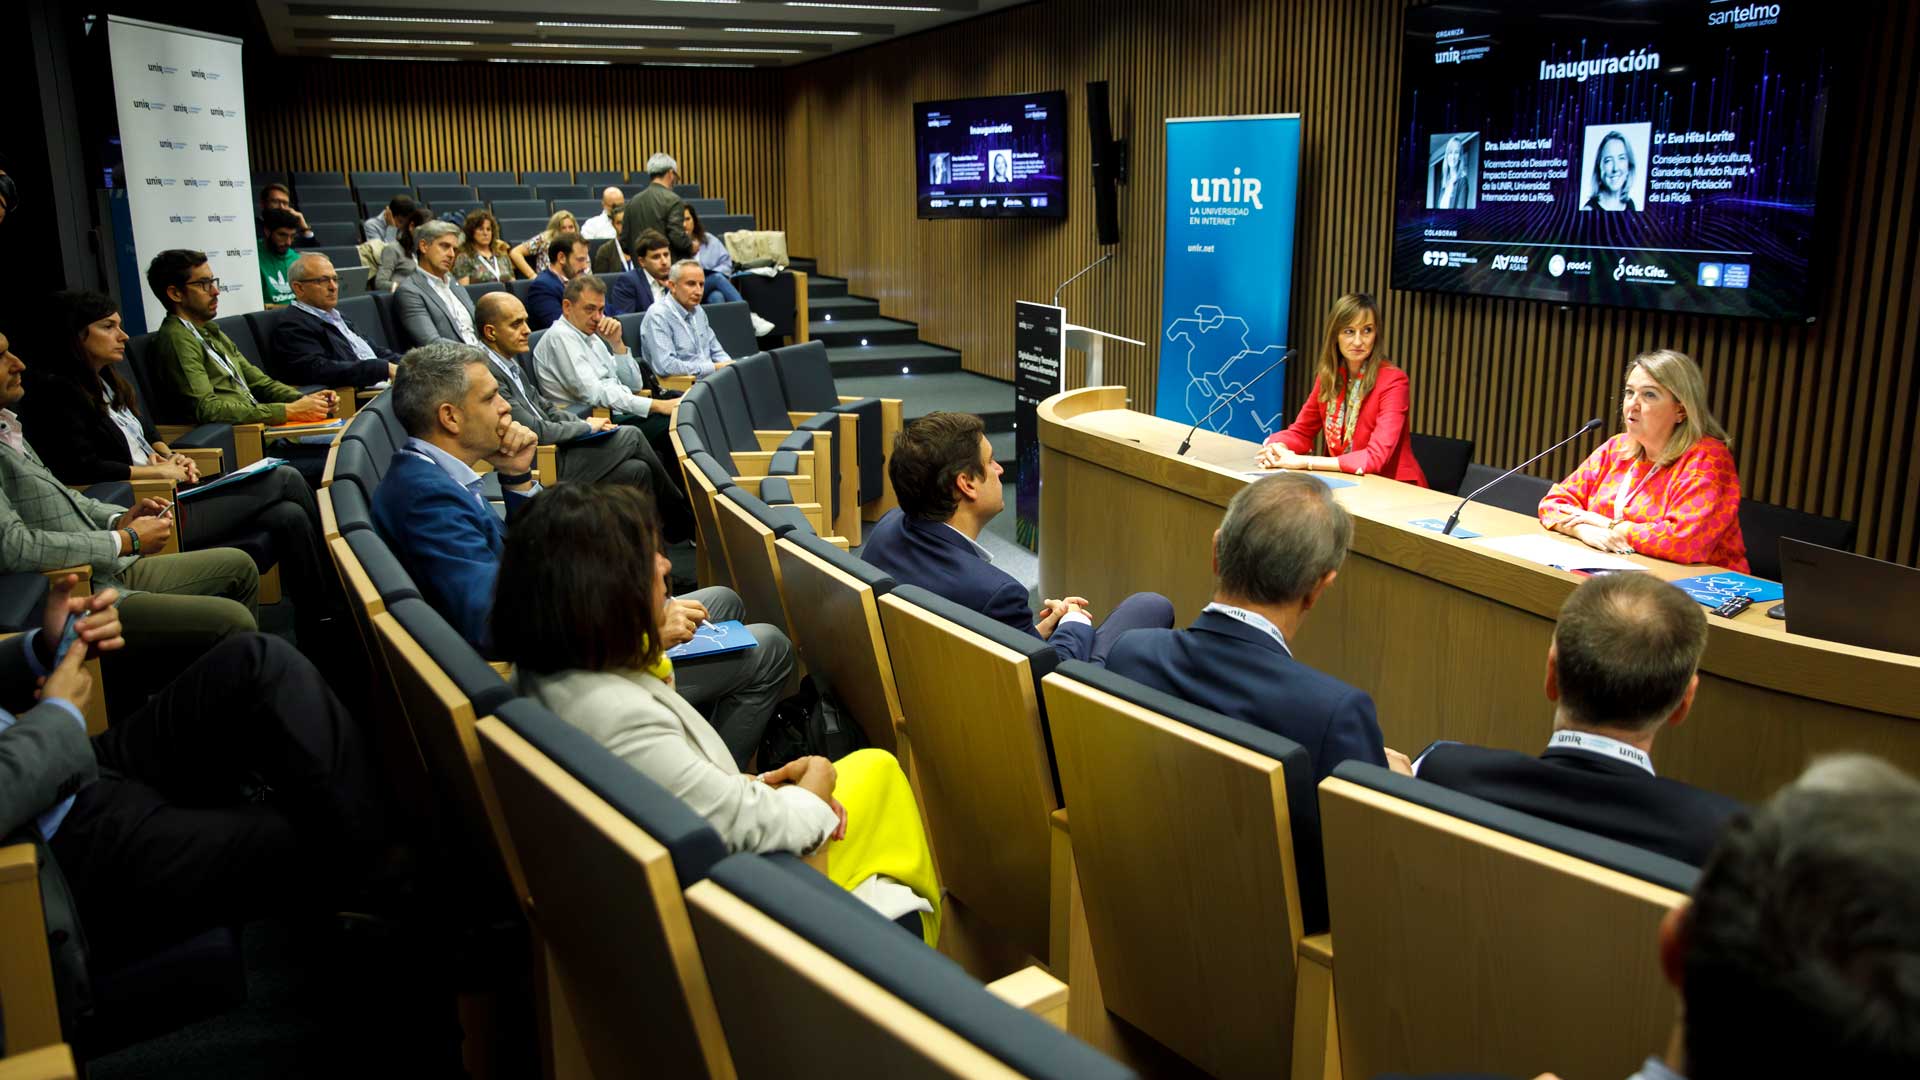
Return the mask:
[[540,438],[513,421],[486,352],[453,342],[407,354],[394,377],[407,444],[372,494],[372,523],[420,586],[420,598],[482,653],[507,527],[480,492],[474,461],[499,473],[507,515],[532,498]]

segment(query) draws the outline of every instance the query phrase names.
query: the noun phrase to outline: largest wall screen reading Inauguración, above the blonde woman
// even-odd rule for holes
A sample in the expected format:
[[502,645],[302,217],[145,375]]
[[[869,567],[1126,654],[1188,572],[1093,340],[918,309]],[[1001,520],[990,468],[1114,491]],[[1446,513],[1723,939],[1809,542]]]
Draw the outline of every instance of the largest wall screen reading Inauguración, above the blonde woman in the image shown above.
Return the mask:
[[1818,300],[1832,4],[1407,12],[1394,286],[1791,319]]

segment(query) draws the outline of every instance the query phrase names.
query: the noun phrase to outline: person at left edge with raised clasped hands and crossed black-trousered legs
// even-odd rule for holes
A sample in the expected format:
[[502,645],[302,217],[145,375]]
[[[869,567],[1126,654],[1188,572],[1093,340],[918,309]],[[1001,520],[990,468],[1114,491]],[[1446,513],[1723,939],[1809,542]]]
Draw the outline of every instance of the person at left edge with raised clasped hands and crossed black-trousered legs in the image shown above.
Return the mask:
[[[136,628],[115,590],[69,600],[71,582],[52,588],[40,626],[0,642],[0,836],[31,824],[46,840],[90,967],[336,911],[380,822],[359,732],[321,673],[278,638],[234,634],[88,738],[98,688],[81,665]],[[81,636],[56,657],[69,613]]]

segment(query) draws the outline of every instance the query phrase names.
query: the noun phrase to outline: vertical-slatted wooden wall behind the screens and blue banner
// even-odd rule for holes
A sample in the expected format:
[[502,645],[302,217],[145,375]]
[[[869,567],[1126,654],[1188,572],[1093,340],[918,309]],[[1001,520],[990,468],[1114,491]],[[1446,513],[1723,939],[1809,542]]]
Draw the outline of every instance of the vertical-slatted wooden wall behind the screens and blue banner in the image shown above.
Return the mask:
[[[1348,290],[1384,306],[1386,342],[1413,379],[1417,430],[1473,438],[1515,463],[1586,417],[1617,429],[1617,386],[1640,350],[1674,346],[1707,371],[1753,498],[1860,523],[1859,550],[1920,561],[1920,380],[1914,377],[1920,198],[1920,12],[1868,0],[1845,71],[1859,106],[1836,115],[1828,288],[1814,325],[1557,307],[1388,290],[1392,129],[1405,0],[1044,0],[785,79],[789,248],[851,279],[887,315],[1012,379],[1012,304],[1046,300],[1098,256],[1083,85],[1114,85],[1133,142],[1121,244],[1062,298],[1075,319],[1152,342],[1160,327],[1165,117],[1306,117],[1292,338],[1309,346]],[[916,100],[1066,88],[1071,219],[914,219]],[[1857,119],[1855,119],[1857,117]],[[1849,131],[1851,125],[1851,131]],[[1108,350],[1108,380],[1150,409],[1158,348]],[[1308,365],[1288,373],[1298,405]],[[1592,446],[1592,444],[1588,444]],[[1559,477],[1578,452],[1534,467]]]

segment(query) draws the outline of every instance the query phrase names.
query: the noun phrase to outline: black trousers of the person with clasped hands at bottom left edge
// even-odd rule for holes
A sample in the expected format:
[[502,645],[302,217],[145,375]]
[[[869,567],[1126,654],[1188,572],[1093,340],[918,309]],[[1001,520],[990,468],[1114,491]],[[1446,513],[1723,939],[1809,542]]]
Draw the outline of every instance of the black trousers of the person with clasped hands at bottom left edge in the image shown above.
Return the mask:
[[353,719],[311,661],[236,634],[94,738],[100,778],[50,844],[92,963],[213,926],[328,911],[378,853]]

